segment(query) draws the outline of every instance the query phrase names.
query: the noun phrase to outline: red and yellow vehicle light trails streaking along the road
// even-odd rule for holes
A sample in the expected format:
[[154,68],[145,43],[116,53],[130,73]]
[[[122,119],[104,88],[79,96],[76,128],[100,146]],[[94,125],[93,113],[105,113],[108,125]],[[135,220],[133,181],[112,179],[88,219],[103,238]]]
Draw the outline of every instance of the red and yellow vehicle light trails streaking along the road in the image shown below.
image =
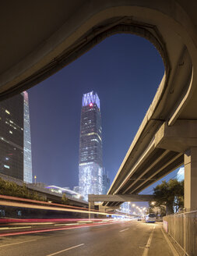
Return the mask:
[[[122,217],[121,214],[117,213],[109,213],[109,212],[100,212],[97,210],[90,210],[87,208],[69,208],[69,206],[65,206],[62,204],[51,204],[51,203],[46,203],[42,201],[32,201],[32,200],[26,200],[24,198],[19,198],[19,201],[16,201],[17,197],[6,197],[0,195],[0,205],[2,207],[6,208],[13,208],[17,209],[17,211],[22,211],[23,209],[35,209],[36,215],[35,217],[37,219],[26,219],[29,216],[29,212],[26,210],[27,214],[22,215],[22,218],[17,216],[13,218],[12,215],[9,214],[6,215],[5,212],[5,217],[0,218],[0,236],[14,236],[14,235],[19,235],[19,234],[27,234],[27,233],[41,233],[41,232],[49,232],[49,231],[55,231],[55,230],[63,230],[63,229],[76,229],[76,228],[83,228],[83,227],[89,227],[89,226],[103,226],[103,225],[109,225],[109,224],[114,224],[114,222],[119,222],[120,218]],[[14,198],[14,199],[13,199]],[[20,210],[21,209],[21,210]],[[53,212],[62,212],[61,216],[65,215],[71,215],[71,218],[57,218],[55,217],[54,219],[51,218],[51,214],[49,214],[50,219],[42,219],[42,212],[43,210],[45,211],[53,211]],[[25,211],[25,210],[24,210]],[[68,212],[68,214],[63,214],[63,212]],[[69,214],[70,212],[70,214]],[[78,219],[72,219],[72,216],[74,217],[72,213],[77,213],[79,216]],[[96,218],[95,219],[86,219],[88,216],[87,214],[93,214]],[[97,216],[103,215],[104,219],[97,219]],[[107,215],[114,215],[118,219],[113,219],[113,218],[105,218]],[[83,218],[85,217],[85,218]],[[125,219],[128,220],[128,219]],[[42,227],[42,225],[44,225]],[[59,226],[59,227],[58,227]],[[18,229],[17,231],[13,229]],[[26,229],[26,230],[21,230],[19,229]],[[9,232],[9,230],[11,230]]]

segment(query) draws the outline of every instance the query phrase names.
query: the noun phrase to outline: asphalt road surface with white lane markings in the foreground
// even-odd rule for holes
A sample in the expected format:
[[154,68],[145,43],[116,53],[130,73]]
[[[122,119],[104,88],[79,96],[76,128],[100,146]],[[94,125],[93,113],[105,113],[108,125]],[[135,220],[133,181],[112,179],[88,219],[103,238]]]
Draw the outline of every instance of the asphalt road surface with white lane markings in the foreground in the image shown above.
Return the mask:
[[172,256],[160,224],[135,220],[0,237],[0,256]]

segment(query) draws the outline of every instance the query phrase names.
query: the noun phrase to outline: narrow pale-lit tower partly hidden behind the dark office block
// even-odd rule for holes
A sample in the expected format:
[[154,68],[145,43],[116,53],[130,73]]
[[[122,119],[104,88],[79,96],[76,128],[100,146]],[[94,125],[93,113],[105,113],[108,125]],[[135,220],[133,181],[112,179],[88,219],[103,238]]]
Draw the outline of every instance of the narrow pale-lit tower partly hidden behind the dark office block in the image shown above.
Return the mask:
[[24,172],[23,180],[32,183],[32,161],[31,161],[31,137],[30,137],[30,112],[29,100],[26,91],[24,95]]

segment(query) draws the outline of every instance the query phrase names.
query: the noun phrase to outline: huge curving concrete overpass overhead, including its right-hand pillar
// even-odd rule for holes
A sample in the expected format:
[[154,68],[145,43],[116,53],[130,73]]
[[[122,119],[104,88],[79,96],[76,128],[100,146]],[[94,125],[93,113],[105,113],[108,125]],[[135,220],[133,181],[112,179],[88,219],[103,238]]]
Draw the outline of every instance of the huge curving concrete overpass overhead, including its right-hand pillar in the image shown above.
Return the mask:
[[3,2],[0,99],[33,87],[112,34],[145,37],[165,73],[108,194],[137,194],[184,163],[185,207],[197,209],[196,9],[195,0]]

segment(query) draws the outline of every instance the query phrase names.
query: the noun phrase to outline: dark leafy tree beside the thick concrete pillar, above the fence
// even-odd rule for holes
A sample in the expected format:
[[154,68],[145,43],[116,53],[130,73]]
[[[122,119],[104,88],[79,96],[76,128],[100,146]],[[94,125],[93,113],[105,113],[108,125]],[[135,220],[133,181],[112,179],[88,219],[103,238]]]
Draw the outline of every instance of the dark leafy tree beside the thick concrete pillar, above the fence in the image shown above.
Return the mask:
[[163,180],[160,185],[153,188],[155,204],[150,203],[150,207],[157,206],[160,208],[166,207],[166,214],[178,212],[179,208],[183,208],[184,197],[184,182],[178,180]]

